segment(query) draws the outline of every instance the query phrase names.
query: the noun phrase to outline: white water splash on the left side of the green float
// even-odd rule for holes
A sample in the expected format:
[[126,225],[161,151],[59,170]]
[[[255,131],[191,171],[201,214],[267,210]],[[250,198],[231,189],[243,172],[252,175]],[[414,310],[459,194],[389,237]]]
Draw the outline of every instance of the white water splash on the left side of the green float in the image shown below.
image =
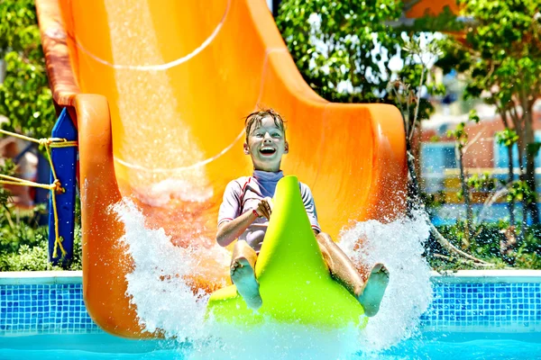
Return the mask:
[[[126,294],[137,306],[142,328],[151,333],[160,329],[166,337],[179,340],[206,338],[200,324],[205,320],[208,294],[194,293],[186,281],[186,276],[197,274],[197,249],[175,247],[164,229],[148,229],[142,212],[130,200],[116,204],[114,211],[124,222],[121,242],[133,258]],[[225,249],[216,246],[206,251],[227,266]]]

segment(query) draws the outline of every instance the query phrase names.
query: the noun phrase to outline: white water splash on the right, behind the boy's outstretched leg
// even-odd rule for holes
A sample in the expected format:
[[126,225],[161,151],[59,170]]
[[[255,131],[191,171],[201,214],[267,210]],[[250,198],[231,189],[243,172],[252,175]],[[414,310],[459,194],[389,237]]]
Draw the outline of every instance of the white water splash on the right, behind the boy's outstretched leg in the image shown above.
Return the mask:
[[[385,224],[359,222],[342,232],[338,246],[357,266],[368,271],[382,263],[390,271],[380,311],[363,330],[363,347],[381,350],[417,334],[420,316],[432,302],[430,267],[421,257],[429,231],[425,215],[418,212],[412,219]],[[363,241],[357,247],[359,238]]]

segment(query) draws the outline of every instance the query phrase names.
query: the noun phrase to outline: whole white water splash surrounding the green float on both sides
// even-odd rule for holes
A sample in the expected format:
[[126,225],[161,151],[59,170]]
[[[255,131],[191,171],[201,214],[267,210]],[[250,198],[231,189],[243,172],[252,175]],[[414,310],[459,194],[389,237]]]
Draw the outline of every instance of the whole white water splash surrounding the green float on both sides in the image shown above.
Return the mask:
[[[428,236],[426,222],[420,217],[388,224],[367,221],[344,230],[339,243],[354,262],[366,267],[382,262],[390,269],[381,311],[362,333],[271,323],[252,329],[215,324],[206,320],[208,294],[193,293],[184,278],[201,267],[197,249],[175,247],[163,229],[148,229],[142,212],[129,200],[115,205],[114,210],[124,222],[122,243],[133,258],[126,293],[137,306],[139,321],[146,331],[160,329],[168,338],[188,341],[183,357],[389,358],[380,350],[415,334],[418,318],[431,300],[428,266],[421,258],[422,242]],[[358,238],[365,241],[355,248]],[[224,266],[229,263],[230,254],[224,248],[205,251]],[[187,348],[186,343],[183,347]]]

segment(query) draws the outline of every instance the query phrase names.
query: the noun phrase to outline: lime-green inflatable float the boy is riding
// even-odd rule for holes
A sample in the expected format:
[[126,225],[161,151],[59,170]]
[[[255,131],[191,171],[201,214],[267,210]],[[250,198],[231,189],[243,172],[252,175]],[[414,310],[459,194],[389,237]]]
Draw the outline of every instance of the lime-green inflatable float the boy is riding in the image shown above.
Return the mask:
[[327,270],[296,176],[285,176],[276,187],[255,274],[261,308],[252,311],[235,286],[227,286],[208,302],[207,311],[216,321],[250,326],[271,320],[321,329],[366,326],[362,305]]

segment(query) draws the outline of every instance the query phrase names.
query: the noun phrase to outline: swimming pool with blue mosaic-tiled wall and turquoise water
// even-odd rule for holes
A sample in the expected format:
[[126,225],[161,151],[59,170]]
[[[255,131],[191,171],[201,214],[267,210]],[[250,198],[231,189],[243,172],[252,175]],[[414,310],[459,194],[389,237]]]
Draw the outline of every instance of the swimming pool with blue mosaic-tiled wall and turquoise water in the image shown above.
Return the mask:
[[[432,288],[433,302],[413,336],[348,358],[541,358],[541,272],[433,274]],[[291,358],[289,350],[262,349],[261,358]],[[303,358],[328,358],[316,346],[310,351]],[[197,352],[174,340],[105,334],[87,314],[78,272],[0,275],[0,359],[225,358]]]

